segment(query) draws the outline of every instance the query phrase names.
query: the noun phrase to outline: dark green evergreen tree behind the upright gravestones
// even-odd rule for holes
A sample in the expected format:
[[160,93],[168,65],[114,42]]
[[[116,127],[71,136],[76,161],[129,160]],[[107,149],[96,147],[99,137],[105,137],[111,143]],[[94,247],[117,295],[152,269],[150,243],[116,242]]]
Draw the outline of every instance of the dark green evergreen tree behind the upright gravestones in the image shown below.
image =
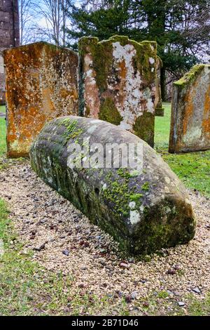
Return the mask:
[[[108,39],[114,34],[136,41],[155,40],[162,58],[162,98],[165,100],[166,72],[179,79],[204,53],[209,44],[210,0],[98,0],[69,4],[73,29],[67,34],[76,49],[84,36]],[[96,5],[97,2],[97,5]]]

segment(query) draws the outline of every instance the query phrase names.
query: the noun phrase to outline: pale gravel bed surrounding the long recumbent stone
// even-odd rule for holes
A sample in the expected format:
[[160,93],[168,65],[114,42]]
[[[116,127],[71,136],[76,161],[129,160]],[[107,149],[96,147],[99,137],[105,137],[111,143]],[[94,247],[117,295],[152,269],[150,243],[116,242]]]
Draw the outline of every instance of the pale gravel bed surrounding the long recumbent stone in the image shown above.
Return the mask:
[[26,242],[22,253],[34,249],[38,263],[70,275],[72,296],[107,294],[118,303],[122,296],[131,302],[167,291],[177,304],[187,305],[187,293],[204,298],[209,291],[209,199],[190,192],[198,221],[195,239],[146,262],[123,259],[118,244],[45,185],[29,164],[1,172],[0,185],[0,197],[9,202],[10,218]]

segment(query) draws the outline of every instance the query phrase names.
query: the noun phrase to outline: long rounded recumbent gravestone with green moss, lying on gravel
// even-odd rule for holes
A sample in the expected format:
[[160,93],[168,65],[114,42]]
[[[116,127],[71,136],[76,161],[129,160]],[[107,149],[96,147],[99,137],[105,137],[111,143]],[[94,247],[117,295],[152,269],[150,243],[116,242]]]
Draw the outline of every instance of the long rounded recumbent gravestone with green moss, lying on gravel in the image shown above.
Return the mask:
[[[116,141],[128,148],[142,146],[142,171],[130,166],[131,157],[127,168],[88,168],[89,162],[103,164],[104,150]],[[109,155],[106,152],[106,161]],[[140,152],[138,164],[141,156]],[[45,183],[132,253],[184,244],[195,234],[192,206],[179,178],[147,143],[118,126],[84,117],[53,119],[38,135],[30,157],[32,168]],[[118,153],[113,155],[114,164],[118,157]],[[122,161],[126,159],[125,152]]]

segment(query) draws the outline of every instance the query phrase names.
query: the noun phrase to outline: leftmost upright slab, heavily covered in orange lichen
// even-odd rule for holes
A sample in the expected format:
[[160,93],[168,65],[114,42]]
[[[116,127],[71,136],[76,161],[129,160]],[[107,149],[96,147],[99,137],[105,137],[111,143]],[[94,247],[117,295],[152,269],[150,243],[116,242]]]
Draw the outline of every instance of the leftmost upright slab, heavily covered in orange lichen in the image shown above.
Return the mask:
[[4,51],[8,157],[27,156],[46,121],[78,114],[78,55],[45,42]]

